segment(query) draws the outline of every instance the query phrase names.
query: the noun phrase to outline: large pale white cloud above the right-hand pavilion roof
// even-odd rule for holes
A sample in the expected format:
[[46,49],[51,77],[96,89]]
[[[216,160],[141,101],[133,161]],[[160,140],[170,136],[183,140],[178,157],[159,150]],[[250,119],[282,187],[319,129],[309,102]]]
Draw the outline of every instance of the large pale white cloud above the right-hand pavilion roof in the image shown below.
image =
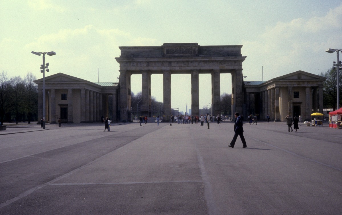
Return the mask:
[[261,80],[261,67],[267,78],[277,77],[297,70],[318,74],[326,71],[325,49],[341,46],[338,35],[342,34],[342,5],[330,10],[325,16],[309,19],[297,18],[287,23],[268,26],[254,41],[242,41],[244,74],[249,80]]

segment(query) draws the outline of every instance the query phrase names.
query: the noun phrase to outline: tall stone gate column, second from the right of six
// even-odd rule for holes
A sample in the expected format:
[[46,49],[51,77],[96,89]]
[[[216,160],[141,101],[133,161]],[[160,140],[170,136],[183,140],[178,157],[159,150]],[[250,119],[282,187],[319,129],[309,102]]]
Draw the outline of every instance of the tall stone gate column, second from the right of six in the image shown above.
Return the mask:
[[[216,114],[221,114],[221,87],[220,87],[220,70],[214,70],[211,73],[211,110],[212,114],[216,116]],[[242,95],[242,91],[241,91]],[[242,99],[241,99],[242,101]],[[242,114],[242,102],[241,102],[241,112]]]

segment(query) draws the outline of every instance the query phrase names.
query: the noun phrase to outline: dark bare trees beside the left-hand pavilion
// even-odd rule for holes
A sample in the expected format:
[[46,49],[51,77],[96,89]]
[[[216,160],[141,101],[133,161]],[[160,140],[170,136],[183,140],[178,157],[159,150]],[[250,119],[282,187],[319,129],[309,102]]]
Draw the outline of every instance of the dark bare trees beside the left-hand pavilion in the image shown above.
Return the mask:
[[28,72],[24,78],[8,77],[5,71],[0,74],[0,120],[37,121],[38,89],[34,83],[36,76]]

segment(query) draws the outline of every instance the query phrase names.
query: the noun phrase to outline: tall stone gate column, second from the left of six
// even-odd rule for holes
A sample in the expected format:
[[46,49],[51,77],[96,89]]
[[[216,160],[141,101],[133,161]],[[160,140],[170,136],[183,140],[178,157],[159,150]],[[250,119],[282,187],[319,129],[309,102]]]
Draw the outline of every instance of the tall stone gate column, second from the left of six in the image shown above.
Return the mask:
[[148,71],[142,71],[142,83],[141,83],[141,111],[143,115],[148,115],[148,111],[151,106],[151,73]]

